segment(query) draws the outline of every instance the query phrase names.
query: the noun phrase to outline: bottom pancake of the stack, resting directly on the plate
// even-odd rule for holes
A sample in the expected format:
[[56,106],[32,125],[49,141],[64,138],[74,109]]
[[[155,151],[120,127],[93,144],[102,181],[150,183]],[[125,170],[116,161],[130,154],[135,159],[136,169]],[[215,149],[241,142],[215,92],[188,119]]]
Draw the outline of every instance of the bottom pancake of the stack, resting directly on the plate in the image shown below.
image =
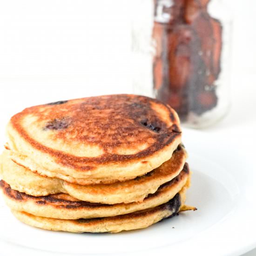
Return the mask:
[[177,215],[184,205],[185,190],[186,189],[182,189],[182,191],[176,194],[173,199],[155,208],[114,217],[62,220],[34,216],[16,210],[12,210],[12,213],[21,222],[41,229],[61,230],[75,233],[117,233],[122,230],[147,228],[164,218]]

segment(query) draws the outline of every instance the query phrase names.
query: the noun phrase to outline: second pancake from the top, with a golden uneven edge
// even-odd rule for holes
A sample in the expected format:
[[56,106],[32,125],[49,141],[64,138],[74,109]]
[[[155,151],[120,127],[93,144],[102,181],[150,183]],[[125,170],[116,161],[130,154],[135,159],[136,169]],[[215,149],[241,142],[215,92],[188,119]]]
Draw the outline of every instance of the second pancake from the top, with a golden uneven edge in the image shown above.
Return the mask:
[[5,150],[2,156],[2,178],[12,189],[34,196],[67,193],[82,201],[107,204],[141,202],[159,186],[175,178],[187,158],[185,149],[179,145],[171,159],[146,175],[124,182],[83,186],[34,174],[11,161],[9,152]]

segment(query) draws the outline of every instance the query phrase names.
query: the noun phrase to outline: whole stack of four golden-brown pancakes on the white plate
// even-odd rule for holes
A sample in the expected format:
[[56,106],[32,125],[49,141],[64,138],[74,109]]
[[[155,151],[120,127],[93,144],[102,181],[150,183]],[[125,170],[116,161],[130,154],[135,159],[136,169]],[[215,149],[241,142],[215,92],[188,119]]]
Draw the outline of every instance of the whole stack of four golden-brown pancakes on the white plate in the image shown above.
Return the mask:
[[146,228],[193,209],[179,118],[137,95],[26,108],[7,126],[0,187],[14,216],[70,232]]

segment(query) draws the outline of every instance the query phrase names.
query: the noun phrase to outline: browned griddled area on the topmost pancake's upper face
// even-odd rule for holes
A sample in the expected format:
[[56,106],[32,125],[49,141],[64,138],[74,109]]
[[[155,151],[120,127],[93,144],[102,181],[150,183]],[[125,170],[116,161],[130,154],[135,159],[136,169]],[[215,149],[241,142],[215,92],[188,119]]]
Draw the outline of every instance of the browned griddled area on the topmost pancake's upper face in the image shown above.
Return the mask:
[[[152,104],[165,109],[173,121],[171,126],[167,126],[167,123],[162,121],[159,114],[152,108]],[[77,171],[85,171],[94,169],[98,164],[141,159],[171,144],[181,137],[179,121],[175,120],[173,111],[168,105],[155,99],[120,94],[70,100],[61,105],[26,108],[14,115],[11,122],[20,136],[34,148],[52,155],[62,165],[75,168]],[[49,120],[68,118],[70,120],[68,126],[61,124],[61,129],[58,129],[58,125],[50,125],[54,127],[56,139],[68,141],[72,138],[77,143],[97,145],[104,153],[98,157],[78,157],[38,143],[20,125],[21,119],[30,114],[39,122],[45,122],[46,126],[49,125]],[[131,138],[135,139],[131,140]],[[134,149],[144,143],[147,143],[148,147],[136,154],[116,153],[118,148]]]

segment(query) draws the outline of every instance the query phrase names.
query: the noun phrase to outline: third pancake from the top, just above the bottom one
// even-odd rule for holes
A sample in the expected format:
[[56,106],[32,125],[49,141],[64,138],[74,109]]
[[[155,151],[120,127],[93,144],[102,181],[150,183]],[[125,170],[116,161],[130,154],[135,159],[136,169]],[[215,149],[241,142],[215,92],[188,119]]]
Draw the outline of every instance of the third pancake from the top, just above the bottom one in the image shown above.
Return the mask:
[[25,211],[35,216],[58,219],[88,219],[118,216],[154,208],[168,202],[183,187],[189,187],[189,181],[189,168],[186,164],[184,170],[175,179],[163,184],[155,194],[148,195],[142,202],[114,205],[78,201],[67,194],[35,197],[11,189],[4,181],[0,181],[0,188],[8,207],[11,209]]

